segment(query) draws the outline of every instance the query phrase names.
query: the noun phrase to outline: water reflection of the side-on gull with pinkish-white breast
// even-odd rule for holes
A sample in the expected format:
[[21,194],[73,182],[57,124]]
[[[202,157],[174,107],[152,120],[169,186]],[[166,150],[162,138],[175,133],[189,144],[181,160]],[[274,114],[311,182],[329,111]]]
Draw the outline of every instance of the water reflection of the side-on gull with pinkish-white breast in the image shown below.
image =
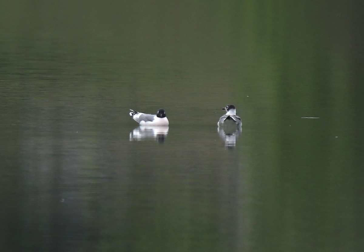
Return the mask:
[[130,132],[129,141],[154,139],[158,143],[163,143],[167,137],[168,130],[168,126],[139,126]]

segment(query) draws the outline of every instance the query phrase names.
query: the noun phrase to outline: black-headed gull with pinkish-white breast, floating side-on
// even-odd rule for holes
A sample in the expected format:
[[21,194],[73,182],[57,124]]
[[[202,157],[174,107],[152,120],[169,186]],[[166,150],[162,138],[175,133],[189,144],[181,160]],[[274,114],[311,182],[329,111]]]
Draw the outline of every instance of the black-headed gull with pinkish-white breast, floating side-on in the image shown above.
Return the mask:
[[157,111],[157,115],[145,114],[134,109],[130,109],[129,115],[140,125],[149,125],[149,126],[167,126],[169,125],[169,121],[166,116],[166,111],[164,109],[159,109]]

